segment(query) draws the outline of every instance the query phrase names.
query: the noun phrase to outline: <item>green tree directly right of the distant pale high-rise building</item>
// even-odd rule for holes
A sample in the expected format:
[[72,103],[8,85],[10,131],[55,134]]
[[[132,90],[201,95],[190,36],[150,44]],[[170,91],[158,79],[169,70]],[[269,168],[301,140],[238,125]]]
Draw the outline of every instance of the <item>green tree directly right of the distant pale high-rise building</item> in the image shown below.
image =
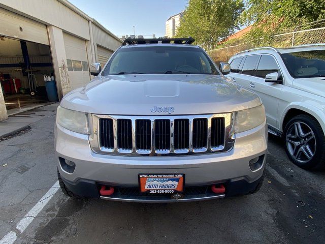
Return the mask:
[[241,0],[189,0],[176,36],[191,36],[196,44],[211,48],[238,27],[243,7]]

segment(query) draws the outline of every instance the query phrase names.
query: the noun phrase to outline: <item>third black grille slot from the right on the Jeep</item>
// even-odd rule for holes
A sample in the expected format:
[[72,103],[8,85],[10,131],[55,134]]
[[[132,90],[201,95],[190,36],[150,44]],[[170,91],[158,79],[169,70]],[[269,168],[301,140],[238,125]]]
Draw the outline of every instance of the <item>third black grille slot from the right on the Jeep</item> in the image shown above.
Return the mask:
[[175,150],[188,150],[189,148],[189,120],[174,120],[174,148]]

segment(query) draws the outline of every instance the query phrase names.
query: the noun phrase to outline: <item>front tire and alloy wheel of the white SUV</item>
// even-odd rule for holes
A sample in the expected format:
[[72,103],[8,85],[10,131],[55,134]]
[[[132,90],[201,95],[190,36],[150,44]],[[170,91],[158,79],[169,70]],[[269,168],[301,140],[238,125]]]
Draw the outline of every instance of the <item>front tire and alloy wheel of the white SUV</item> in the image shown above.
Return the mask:
[[318,121],[306,114],[291,118],[284,128],[289,159],[303,169],[320,166],[325,160],[325,137]]

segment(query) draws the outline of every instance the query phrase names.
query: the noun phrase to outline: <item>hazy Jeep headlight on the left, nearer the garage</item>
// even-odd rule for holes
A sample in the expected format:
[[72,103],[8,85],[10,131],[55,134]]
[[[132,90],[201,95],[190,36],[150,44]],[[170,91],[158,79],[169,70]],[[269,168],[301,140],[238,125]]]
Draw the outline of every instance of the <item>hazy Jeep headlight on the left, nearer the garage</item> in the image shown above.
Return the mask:
[[88,134],[87,114],[58,106],[56,122],[60,126],[81,134]]

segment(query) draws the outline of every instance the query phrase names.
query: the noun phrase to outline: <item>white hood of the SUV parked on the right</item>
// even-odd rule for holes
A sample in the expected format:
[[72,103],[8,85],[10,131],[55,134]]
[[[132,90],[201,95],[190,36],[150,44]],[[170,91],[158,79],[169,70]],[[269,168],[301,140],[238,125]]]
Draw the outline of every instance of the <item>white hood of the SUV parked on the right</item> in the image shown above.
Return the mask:
[[325,77],[299,78],[293,82],[293,87],[321,97],[325,97]]

